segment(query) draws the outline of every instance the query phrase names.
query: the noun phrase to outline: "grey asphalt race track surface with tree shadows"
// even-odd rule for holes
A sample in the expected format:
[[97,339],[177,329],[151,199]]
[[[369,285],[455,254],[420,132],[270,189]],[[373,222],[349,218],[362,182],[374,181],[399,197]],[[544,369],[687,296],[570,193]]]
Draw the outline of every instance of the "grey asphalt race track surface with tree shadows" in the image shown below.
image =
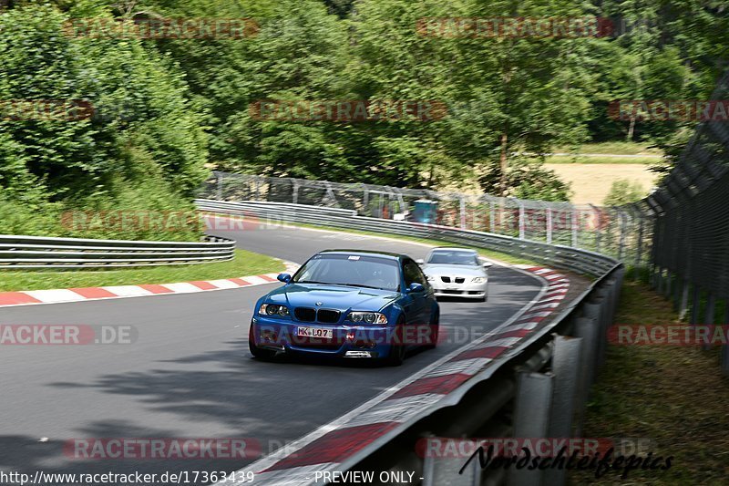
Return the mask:
[[[327,248],[422,258],[423,245],[298,228],[219,232],[238,246],[296,263]],[[231,275],[240,276],[240,275]],[[189,295],[0,309],[0,324],[134,326],[130,345],[0,346],[0,471],[162,473],[237,470],[248,460],[78,460],[68,439],[250,438],[268,453],[343,415],[528,304],[539,282],[490,270],[487,303],[441,302],[441,328],[458,336],[402,367],[250,357],[252,306],[276,284]],[[41,438],[44,441],[39,441]],[[5,484],[0,480],[0,483]]]

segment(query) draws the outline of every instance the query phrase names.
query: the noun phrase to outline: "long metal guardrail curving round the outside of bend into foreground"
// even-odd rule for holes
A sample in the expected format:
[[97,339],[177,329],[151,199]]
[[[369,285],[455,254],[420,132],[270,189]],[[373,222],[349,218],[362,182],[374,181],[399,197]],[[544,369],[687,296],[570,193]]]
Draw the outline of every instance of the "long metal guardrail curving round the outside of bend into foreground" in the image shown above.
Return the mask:
[[[423,408],[415,419],[386,431],[336,465],[339,471],[412,471],[416,478],[424,478],[422,484],[426,486],[565,482],[565,470],[481,469],[478,460],[471,461],[470,467],[459,473],[465,459],[423,457],[416,453],[416,444],[429,437],[580,437],[583,410],[597,367],[604,361],[608,328],[620,296],[624,276],[620,262],[567,246],[446,226],[367,218],[354,211],[320,206],[214,200],[196,203],[200,211],[241,215],[259,222],[304,222],[467,244],[596,277],[558,315],[539,325],[475,377],[435,405]],[[278,484],[275,480],[259,483]]]

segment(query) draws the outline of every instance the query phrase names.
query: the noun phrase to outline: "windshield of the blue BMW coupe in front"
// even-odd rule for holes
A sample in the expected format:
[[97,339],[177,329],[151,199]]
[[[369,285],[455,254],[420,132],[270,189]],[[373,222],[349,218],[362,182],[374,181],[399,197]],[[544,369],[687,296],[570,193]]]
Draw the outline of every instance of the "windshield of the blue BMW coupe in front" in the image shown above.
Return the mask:
[[400,266],[396,260],[377,256],[317,254],[293,275],[293,282],[396,291],[400,286]]

